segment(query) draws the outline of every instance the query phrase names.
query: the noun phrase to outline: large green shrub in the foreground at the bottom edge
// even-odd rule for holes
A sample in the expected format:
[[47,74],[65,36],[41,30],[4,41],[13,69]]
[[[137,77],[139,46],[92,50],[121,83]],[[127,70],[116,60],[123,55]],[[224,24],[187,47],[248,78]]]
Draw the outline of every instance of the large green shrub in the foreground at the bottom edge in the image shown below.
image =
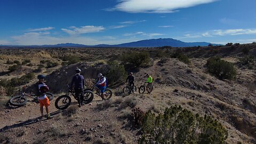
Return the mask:
[[180,106],[156,116],[148,111],[141,125],[139,143],[225,143],[228,131],[210,116],[194,115]]

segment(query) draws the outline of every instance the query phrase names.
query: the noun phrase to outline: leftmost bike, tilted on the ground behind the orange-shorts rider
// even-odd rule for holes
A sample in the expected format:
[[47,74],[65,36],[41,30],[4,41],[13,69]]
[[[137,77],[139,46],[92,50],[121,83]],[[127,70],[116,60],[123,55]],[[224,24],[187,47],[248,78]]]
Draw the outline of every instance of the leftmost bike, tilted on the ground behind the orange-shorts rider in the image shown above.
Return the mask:
[[[15,95],[9,100],[10,105],[12,106],[24,106],[28,102],[27,97],[32,98],[32,101],[35,101],[36,103],[39,103],[37,96],[34,93],[25,93],[26,86],[22,87],[22,91],[20,95]],[[49,100],[52,100],[53,94],[50,92],[46,92],[46,97],[48,97]]]

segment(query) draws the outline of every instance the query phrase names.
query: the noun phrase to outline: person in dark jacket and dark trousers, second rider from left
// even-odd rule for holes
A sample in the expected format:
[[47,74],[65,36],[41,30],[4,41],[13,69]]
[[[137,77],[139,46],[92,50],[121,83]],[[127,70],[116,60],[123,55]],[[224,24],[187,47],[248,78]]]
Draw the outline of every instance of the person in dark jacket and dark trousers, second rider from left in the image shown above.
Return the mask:
[[84,77],[82,75],[80,75],[81,73],[81,69],[77,68],[76,69],[76,75],[73,76],[72,81],[71,81],[71,85],[70,88],[74,86],[74,90],[75,90],[75,96],[80,99],[78,101],[78,105],[79,107],[81,107],[81,105],[83,105],[83,100],[84,100]]

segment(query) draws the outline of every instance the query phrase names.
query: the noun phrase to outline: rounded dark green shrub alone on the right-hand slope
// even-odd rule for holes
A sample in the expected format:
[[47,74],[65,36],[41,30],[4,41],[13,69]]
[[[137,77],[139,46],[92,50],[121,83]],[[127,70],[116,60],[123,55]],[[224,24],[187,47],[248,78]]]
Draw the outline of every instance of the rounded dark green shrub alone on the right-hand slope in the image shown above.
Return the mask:
[[236,76],[236,69],[233,63],[221,60],[220,57],[211,57],[206,63],[207,71],[219,79],[233,79]]

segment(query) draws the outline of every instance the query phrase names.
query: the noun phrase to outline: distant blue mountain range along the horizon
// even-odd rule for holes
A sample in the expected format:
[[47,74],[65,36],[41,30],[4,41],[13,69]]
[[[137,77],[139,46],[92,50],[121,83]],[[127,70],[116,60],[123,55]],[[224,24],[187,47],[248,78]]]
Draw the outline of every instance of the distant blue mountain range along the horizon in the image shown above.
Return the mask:
[[[172,47],[191,47],[191,46],[208,46],[212,43],[206,42],[193,42],[186,43],[173,38],[158,38],[158,39],[146,39],[137,42],[123,43],[116,45],[99,44],[99,45],[83,45],[83,44],[55,44],[55,45],[0,45],[0,46],[13,46],[13,47],[161,47],[161,46],[172,46]],[[220,45],[220,44],[212,44]]]

